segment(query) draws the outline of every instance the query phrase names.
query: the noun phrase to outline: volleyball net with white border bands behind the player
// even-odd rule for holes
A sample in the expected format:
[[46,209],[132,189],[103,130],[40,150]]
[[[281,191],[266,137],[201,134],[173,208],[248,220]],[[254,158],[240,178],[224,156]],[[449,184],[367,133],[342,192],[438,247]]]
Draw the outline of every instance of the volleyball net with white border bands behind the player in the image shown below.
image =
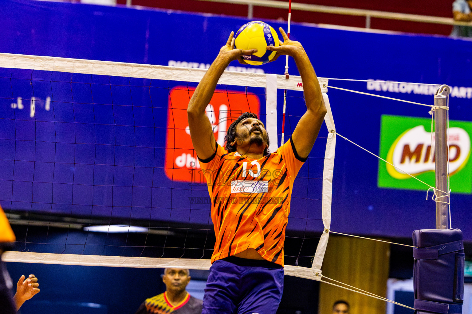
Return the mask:
[[[211,266],[211,199],[186,116],[205,70],[11,54],[0,67],[0,203],[17,235],[6,261]],[[295,180],[285,239],[286,274],[311,279],[330,224],[327,84],[327,128]],[[227,71],[206,114],[220,145],[241,113],[258,114],[274,152],[305,110],[299,76]]]

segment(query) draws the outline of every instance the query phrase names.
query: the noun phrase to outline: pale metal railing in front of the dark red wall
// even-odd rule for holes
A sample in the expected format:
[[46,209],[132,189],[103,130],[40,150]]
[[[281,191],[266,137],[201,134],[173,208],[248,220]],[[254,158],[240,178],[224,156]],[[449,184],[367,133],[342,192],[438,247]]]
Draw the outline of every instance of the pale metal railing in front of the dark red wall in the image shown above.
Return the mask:
[[[266,7],[266,8],[285,8],[288,10],[288,1],[277,1],[277,0],[198,0],[198,1],[247,5],[248,18],[253,18],[254,6]],[[131,6],[132,0],[126,0],[126,5]],[[351,15],[351,16],[365,16],[365,28],[371,27],[372,17],[399,20],[399,21],[418,22],[418,23],[472,26],[472,22],[455,21],[451,17],[426,16],[426,15],[395,13],[395,12],[385,12],[385,11],[365,10],[365,9],[355,9],[355,8],[329,7],[329,6],[322,6],[322,5],[317,5],[317,4],[296,3],[296,2],[292,2],[292,10]]]

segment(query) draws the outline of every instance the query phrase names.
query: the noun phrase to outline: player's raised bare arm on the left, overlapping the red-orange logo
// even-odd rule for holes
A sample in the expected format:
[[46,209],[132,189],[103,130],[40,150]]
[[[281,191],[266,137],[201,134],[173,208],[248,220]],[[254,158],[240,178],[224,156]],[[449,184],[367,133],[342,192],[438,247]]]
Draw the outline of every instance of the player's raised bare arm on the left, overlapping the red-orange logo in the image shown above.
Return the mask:
[[219,50],[218,56],[203,75],[202,81],[198,84],[188,103],[187,117],[190,137],[192,137],[192,144],[200,159],[211,157],[216,149],[213,129],[211,129],[210,121],[205,114],[205,108],[215,92],[219,77],[231,61],[239,59],[243,55],[257,52],[257,49],[233,49],[233,34],[234,32],[231,32],[226,45]]

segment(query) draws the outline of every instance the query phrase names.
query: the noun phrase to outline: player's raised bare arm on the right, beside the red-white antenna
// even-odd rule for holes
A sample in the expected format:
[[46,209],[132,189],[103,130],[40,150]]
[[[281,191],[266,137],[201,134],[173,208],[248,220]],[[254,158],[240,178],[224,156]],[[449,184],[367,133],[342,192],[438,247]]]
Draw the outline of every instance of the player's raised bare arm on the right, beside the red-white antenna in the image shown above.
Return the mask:
[[298,155],[301,158],[306,158],[312,150],[313,144],[315,144],[318,132],[320,132],[326,114],[326,107],[321,94],[320,82],[302,45],[298,41],[289,40],[281,27],[279,31],[284,38],[283,44],[279,47],[269,46],[268,49],[277,51],[280,55],[292,56],[302,77],[306,112],[298,121],[292,134],[292,142]]

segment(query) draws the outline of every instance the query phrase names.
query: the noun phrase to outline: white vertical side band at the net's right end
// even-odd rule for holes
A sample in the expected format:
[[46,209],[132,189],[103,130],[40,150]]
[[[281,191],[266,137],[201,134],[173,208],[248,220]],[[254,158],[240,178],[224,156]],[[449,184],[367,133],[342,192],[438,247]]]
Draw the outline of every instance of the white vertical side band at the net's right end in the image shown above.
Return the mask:
[[336,127],[334,125],[333,113],[329,105],[329,98],[326,92],[323,92],[323,100],[326,107],[325,123],[328,128],[328,140],[326,141],[326,151],[323,167],[323,194],[322,194],[322,219],[324,231],[321,234],[320,242],[316,248],[315,258],[313,259],[312,270],[321,274],[321,264],[326,252],[326,246],[329,238],[329,228],[331,226],[331,195],[333,192],[333,171],[334,154],[336,148]]

